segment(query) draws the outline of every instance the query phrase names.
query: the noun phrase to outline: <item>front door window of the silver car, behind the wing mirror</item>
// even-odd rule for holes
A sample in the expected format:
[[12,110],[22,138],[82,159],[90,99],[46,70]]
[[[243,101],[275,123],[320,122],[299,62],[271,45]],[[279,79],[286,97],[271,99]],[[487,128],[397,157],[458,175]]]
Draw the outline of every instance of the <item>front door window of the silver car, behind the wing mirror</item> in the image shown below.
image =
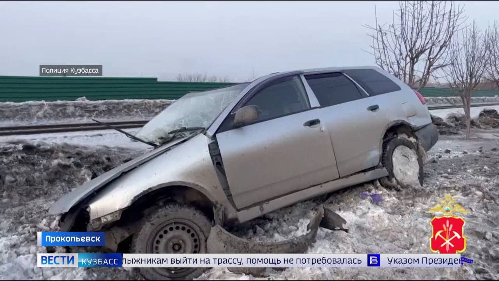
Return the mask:
[[257,105],[258,120],[276,118],[310,107],[305,87],[298,76],[283,77],[260,89],[246,105]]

